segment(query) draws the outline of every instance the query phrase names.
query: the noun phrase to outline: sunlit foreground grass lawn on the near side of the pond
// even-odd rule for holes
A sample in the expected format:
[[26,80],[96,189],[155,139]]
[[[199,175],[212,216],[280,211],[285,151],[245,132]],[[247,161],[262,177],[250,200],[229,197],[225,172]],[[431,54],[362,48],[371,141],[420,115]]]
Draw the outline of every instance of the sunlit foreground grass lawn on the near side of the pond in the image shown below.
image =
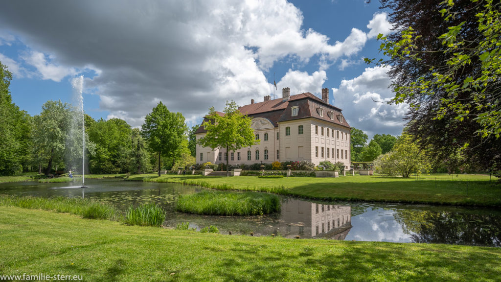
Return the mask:
[[[36,219],[36,220],[32,220]],[[84,281],[497,281],[501,249],[229,236],[0,207],[0,274]]]

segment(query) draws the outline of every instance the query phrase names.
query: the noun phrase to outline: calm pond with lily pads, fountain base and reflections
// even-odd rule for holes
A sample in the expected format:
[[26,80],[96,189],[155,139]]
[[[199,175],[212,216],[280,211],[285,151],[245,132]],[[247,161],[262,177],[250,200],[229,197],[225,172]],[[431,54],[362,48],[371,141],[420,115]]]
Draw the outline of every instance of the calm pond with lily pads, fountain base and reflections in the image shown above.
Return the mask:
[[177,197],[203,188],[167,183],[87,180],[87,188],[68,183],[5,183],[0,194],[98,199],[125,211],[155,202],[167,212],[164,226],[189,222],[210,224],[223,234],[357,241],[420,242],[501,247],[501,211],[473,207],[443,207],[383,203],[308,201],[282,197],[282,211],[264,216],[204,216],[174,211]]

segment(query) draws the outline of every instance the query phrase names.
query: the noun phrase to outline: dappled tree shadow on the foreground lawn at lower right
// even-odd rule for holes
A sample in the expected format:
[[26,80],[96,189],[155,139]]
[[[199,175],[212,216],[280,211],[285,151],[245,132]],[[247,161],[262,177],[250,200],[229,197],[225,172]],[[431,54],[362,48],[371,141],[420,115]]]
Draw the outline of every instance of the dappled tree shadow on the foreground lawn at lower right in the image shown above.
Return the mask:
[[[309,247],[297,250],[298,254],[260,250],[256,246],[235,246],[231,249],[233,257],[216,265],[216,274],[223,281],[301,280],[318,273],[320,280],[340,281],[449,281],[457,277],[495,280],[501,275],[499,268],[487,269],[485,266],[486,261],[495,263],[495,255],[481,250],[457,253],[440,249],[442,255],[436,255],[438,250],[433,245],[414,246],[409,251],[398,245],[381,243],[372,246],[347,244],[346,248],[333,245],[328,254],[316,253]],[[416,252],[420,255],[416,256]],[[444,259],[448,256],[454,259]],[[290,276],[298,272],[302,278]]]

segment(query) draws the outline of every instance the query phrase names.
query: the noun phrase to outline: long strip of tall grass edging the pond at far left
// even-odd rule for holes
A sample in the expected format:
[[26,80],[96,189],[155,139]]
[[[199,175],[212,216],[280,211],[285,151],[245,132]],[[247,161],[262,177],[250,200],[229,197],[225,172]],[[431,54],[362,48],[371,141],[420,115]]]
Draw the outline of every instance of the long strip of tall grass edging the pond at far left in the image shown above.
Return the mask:
[[93,219],[116,219],[116,215],[118,214],[117,209],[110,204],[82,198],[40,198],[0,195],[0,206],[71,213],[80,215],[83,218]]

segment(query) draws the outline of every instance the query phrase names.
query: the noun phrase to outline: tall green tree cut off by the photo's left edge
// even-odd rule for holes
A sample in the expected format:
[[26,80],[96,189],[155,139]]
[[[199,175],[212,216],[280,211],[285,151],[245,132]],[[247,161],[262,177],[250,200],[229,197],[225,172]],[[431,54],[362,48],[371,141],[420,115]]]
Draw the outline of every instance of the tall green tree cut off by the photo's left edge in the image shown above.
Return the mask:
[[21,173],[30,160],[30,116],[12,102],[11,79],[0,62],[0,175]]

